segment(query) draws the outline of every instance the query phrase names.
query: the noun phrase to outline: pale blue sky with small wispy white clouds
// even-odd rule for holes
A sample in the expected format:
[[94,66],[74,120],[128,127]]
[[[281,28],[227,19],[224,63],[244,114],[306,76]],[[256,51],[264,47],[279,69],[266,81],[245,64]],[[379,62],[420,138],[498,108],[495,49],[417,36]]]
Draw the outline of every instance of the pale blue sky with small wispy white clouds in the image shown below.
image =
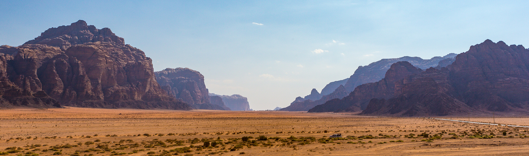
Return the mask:
[[210,93],[286,107],[358,66],[461,53],[490,39],[529,44],[527,1],[4,1],[0,45],[84,20],[153,60],[187,67]]

